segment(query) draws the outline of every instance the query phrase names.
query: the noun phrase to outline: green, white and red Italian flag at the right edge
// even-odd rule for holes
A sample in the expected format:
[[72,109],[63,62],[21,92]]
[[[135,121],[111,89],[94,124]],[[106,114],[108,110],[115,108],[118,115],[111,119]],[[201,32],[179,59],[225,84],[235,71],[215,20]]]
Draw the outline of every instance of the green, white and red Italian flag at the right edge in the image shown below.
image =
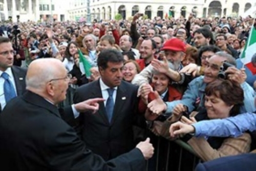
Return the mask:
[[251,71],[253,75],[256,74],[256,68],[253,67],[251,58],[256,53],[256,29],[252,25],[250,35],[247,39],[244,50],[240,56],[241,61]]

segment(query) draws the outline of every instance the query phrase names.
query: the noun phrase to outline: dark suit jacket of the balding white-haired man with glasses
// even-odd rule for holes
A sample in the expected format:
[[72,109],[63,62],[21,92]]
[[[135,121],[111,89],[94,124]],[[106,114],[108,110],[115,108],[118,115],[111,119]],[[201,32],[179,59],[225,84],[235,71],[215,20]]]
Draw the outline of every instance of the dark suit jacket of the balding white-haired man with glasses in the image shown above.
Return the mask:
[[0,170],[143,170],[138,148],[105,162],[60,118],[58,109],[28,91],[0,115]]

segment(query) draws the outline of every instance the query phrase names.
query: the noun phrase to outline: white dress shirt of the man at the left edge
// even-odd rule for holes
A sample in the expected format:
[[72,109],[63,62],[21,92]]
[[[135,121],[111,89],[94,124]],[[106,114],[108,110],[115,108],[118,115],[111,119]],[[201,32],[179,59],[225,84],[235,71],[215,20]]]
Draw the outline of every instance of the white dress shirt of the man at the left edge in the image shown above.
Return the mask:
[[[5,72],[9,75],[9,80],[11,81],[14,87],[15,93],[17,95],[16,84],[14,81],[11,68],[9,67]],[[0,76],[2,75],[2,73],[3,71],[0,71]],[[0,103],[1,103],[2,110],[5,108],[5,105],[6,105],[5,94],[4,94],[4,83],[5,83],[5,79],[3,77],[0,77]]]

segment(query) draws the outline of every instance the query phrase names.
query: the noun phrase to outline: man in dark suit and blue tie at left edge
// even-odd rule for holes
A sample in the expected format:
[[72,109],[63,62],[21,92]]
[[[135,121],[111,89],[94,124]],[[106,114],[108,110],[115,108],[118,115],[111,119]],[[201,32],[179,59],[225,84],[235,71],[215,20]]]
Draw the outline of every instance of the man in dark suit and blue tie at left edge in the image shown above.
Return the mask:
[[[5,92],[5,81],[7,80],[13,87],[13,96],[22,95],[26,90],[26,69],[13,66],[13,47],[12,42],[7,37],[0,37],[0,104],[2,111],[7,103],[6,96],[10,94]],[[4,77],[3,75],[7,75]]]

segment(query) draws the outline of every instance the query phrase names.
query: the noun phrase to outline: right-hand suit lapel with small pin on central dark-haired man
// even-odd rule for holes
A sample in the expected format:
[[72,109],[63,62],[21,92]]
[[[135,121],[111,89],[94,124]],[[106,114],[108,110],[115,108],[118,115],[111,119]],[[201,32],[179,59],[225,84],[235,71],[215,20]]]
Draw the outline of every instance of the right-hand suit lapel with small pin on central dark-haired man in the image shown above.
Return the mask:
[[116,118],[121,114],[121,109],[127,100],[126,97],[126,90],[123,82],[121,82],[120,86],[117,89],[117,94],[116,94],[116,100],[115,100],[115,106],[114,106],[114,112],[111,120],[111,124],[113,124],[116,120]]

